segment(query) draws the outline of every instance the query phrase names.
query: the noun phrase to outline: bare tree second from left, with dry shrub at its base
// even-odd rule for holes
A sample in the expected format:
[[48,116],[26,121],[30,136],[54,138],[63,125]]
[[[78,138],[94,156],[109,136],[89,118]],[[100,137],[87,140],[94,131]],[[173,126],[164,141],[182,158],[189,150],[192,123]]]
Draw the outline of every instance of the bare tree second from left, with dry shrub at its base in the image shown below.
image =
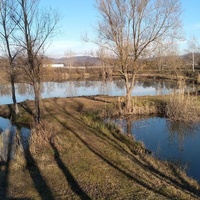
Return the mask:
[[[44,53],[49,39],[57,31],[59,15],[55,10],[39,9],[38,0],[17,0],[13,21],[18,27],[18,37],[15,39],[20,48],[22,71],[26,81],[33,86],[35,96],[35,121],[40,122],[41,73]],[[21,19],[17,21],[17,17]]]

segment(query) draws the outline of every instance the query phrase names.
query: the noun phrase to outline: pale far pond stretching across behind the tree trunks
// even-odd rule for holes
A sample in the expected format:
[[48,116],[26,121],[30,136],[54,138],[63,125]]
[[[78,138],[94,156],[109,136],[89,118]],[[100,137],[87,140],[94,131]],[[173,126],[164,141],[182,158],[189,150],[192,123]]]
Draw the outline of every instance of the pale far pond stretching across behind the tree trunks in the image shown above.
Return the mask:
[[[137,80],[132,91],[133,96],[160,95],[169,93],[177,86],[176,82],[164,80]],[[190,86],[189,86],[190,87]],[[192,88],[191,86],[190,88]],[[125,86],[123,80],[112,81],[65,81],[65,82],[43,82],[41,83],[43,98],[50,97],[72,97],[89,95],[124,96]],[[34,99],[33,88],[24,83],[16,84],[17,101]],[[0,105],[12,103],[11,88],[9,84],[0,85]]]

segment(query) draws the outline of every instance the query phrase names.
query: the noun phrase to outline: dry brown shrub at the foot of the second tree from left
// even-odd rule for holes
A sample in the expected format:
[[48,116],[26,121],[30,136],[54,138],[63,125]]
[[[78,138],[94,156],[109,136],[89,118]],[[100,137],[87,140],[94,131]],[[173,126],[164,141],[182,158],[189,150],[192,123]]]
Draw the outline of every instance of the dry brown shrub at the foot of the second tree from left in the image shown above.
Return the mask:
[[53,139],[55,128],[47,121],[41,121],[34,125],[30,137],[30,151],[37,153],[50,148],[50,141]]

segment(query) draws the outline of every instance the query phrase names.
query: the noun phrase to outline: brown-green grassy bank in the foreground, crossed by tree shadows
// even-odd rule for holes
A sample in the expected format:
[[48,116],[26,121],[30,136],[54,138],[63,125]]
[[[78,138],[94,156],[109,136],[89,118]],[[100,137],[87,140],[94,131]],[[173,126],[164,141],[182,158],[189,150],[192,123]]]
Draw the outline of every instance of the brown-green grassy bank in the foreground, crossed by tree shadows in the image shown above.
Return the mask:
[[[44,129],[51,137],[47,135],[41,143],[38,135],[27,157],[22,149],[17,150],[7,173],[3,168],[0,171],[0,196],[200,199],[199,184],[184,172],[144,154],[140,143],[88,114],[111,109],[113,101],[109,97],[43,100]],[[30,120],[27,110],[33,106],[31,101],[21,104],[22,119]],[[0,110],[8,113],[5,106]]]

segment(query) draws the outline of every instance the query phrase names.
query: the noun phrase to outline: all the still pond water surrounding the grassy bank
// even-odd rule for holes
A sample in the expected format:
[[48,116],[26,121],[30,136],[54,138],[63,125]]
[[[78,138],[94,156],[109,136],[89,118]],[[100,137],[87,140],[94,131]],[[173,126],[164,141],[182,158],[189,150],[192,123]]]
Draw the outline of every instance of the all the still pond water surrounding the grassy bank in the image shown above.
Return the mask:
[[[125,95],[124,82],[113,81],[65,81],[44,82],[41,84],[42,98],[72,97],[89,95]],[[188,86],[191,90],[196,90]],[[162,80],[138,80],[132,91],[133,96],[160,95],[176,89],[176,82]],[[28,84],[16,84],[17,101],[33,99],[32,87]],[[10,85],[0,85],[0,105],[12,103]],[[184,126],[173,124],[164,118],[148,118],[131,122],[119,120],[125,132],[131,131],[137,140],[143,141],[145,146],[160,159],[167,159],[185,167],[189,176],[200,180],[200,125]],[[7,130],[11,131],[7,131]],[[22,128],[20,143],[27,145],[30,130]],[[11,137],[12,136],[12,137]],[[16,127],[9,120],[0,118],[0,158],[6,159],[9,138],[16,139]],[[19,141],[18,141],[19,142]],[[16,143],[14,141],[13,143]],[[14,147],[13,147],[14,149]],[[12,152],[11,152],[12,153]]]

